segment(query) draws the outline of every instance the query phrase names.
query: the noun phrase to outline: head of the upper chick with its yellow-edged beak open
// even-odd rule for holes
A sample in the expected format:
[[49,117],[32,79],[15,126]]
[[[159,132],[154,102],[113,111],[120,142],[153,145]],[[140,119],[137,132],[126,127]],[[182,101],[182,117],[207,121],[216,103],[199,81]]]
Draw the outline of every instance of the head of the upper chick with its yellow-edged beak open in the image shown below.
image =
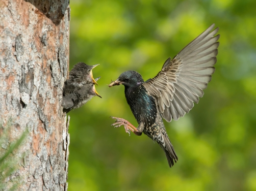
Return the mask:
[[[89,66],[84,62],[78,62],[70,71],[70,80],[74,83],[78,84],[86,84],[86,83],[95,83],[97,82],[94,80],[92,76],[92,69],[98,65]],[[97,84],[98,85],[98,84]]]

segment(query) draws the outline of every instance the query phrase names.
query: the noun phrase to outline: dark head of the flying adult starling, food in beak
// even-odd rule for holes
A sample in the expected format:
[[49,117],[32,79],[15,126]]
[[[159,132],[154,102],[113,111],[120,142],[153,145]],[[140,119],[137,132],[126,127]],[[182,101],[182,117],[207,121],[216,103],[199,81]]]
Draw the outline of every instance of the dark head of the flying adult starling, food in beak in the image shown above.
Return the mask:
[[127,86],[127,87],[137,87],[141,85],[143,82],[144,80],[142,79],[142,76],[138,72],[130,70],[122,73],[117,78],[117,80],[109,84],[109,87],[120,85],[120,84],[123,84],[124,86]]

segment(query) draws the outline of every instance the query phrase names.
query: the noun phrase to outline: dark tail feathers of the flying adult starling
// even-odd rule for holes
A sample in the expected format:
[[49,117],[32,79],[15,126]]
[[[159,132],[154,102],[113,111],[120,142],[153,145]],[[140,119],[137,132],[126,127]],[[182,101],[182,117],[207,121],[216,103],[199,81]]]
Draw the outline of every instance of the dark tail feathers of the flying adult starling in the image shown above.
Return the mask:
[[163,137],[164,144],[163,145],[160,144],[160,146],[165,151],[165,155],[167,157],[169,167],[171,168],[174,165],[173,161],[175,161],[175,163],[176,163],[178,160],[178,157],[177,157],[175,150],[169,140],[168,135],[165,134],[165,135],[162,135],[162,137]]

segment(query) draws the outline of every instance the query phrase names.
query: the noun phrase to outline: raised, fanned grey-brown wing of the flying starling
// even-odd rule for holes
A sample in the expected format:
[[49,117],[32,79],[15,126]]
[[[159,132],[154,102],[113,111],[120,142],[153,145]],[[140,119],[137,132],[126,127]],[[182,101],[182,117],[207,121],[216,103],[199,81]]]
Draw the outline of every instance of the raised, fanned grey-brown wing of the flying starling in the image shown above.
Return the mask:
[[[155,78],[143,85],[156,98],[166,121],[177,120],[198,103],[215,71],[219,35],[212,24],[172,60],[168,58]],[[214,37],[215,36],[215,37]]]

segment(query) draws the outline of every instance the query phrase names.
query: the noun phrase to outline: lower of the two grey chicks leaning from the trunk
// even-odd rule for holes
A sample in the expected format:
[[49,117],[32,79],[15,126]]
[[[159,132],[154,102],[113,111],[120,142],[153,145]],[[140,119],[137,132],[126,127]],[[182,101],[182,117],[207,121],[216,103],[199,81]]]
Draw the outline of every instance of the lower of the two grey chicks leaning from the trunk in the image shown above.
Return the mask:
[[[97,81],[99,78],[100,77],[96,78],[95,81]],[[101,98],[95,89],[94,83],[82,85],[78,91],[74,91],[62,97],[61,105],[63,107],[63,112],[68,113],[72,109],[80,108],[95,95]]]

